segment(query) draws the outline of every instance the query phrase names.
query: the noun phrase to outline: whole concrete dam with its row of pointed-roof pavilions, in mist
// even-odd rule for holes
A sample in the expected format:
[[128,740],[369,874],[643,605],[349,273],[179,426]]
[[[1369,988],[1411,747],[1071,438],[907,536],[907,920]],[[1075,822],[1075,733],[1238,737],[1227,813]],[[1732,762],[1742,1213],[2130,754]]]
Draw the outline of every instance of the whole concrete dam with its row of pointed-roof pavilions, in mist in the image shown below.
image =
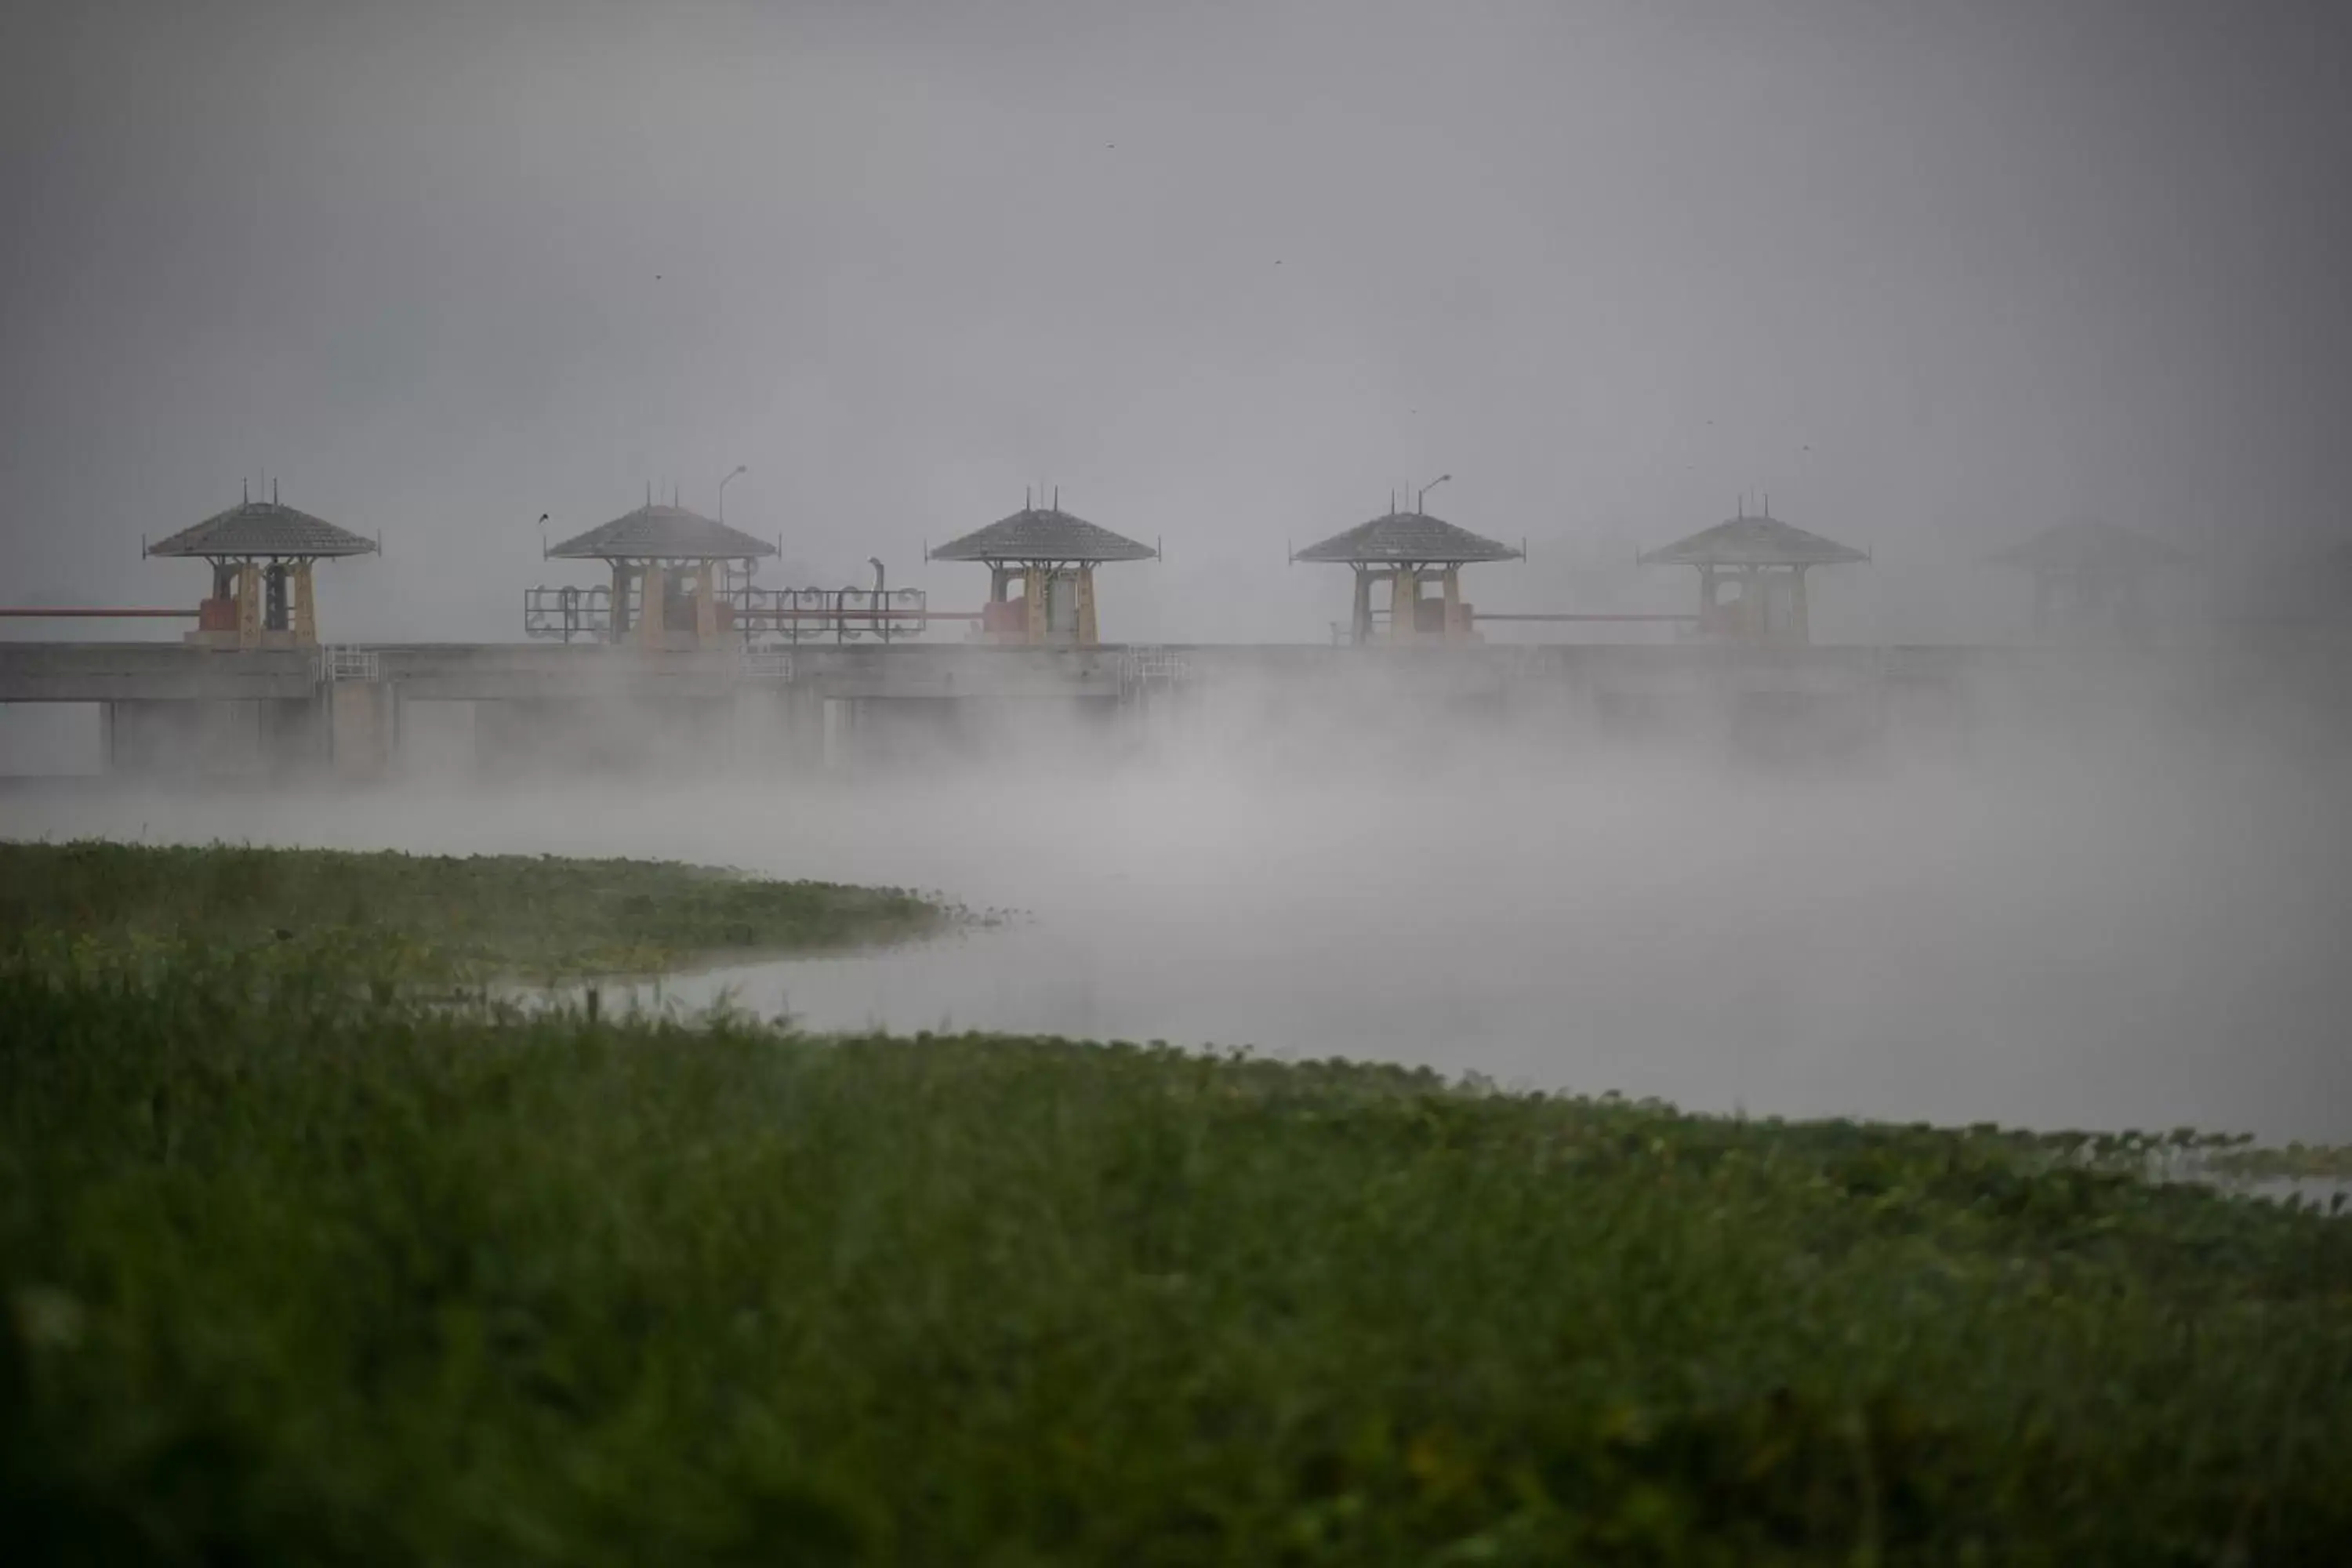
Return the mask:
[[[24,621],[195,621],[179,642],[0,639],[0,703],[96,705],[113,773],[350,780],[397,771],[414,722],[433,717],[447,731],[449,705],[470,710],[473,759],[494,771],[779,773],[858,766],[901,743],[1021,745],[1007,736],[1040,715],[1080,736],[1129,738],[1185,724],[1284,736],[1315,719],[1378,736],[1399,755],[1444,745],[1454,724],[1505,722],[1569,745],[1700,736],[1806,759],[1884,738],[1966,745],[1987,715],[2060,705],[2122,712],[2157,701],[2223,717],[2331,719],[2352,708],[2352,632],[2340,616],[2220,635],[2173,625],[2166,637],[2037,644],[1816,644],[1804,574],[1865,552],[1745,510],[1644,555],[1698,569],[1698,614],[1479,611],[1461,595],[1461,567],[1524,550],[1392,505],[1298,552],[1350,567],[1345,642],[1105,642],[1094,567],[1155,559],[1160,548],[1054,501],[929,552],[988,567],[985,602],[967,609],[889,588],[880,559],[870,588],[760,588],[753,576],[774,545],[647,498],[546,550],[595,562],[609,581],[527,590],[517,642],[353,644],[320,628],[310,564],[372,555],[376,541],[275,496],[247,498],[148,550],[212,564],[212,592],[195,609],[0,609]],[[2096,550],[2063,543],[2077,548],[2039,541],[2025,564],[2067,585],[2086,578],[2082,559],[2136,564],[2114,536],[2091,538]],[[1437,597],[1421,595],[1425,578],[1439,583]],[[1388,616],[1376,614],[1376,583],[1388,588]],[[1489,642],[1482,621],[1675,630],[1670,642]]]

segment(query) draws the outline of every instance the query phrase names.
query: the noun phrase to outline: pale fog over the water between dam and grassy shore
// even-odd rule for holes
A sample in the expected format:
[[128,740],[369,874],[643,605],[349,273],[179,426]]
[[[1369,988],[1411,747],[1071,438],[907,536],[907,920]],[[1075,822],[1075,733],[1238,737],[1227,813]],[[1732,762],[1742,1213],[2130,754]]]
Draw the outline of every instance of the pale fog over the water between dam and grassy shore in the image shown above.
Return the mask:
[[[1369,1056],[1757,1114],[2352,1135],[2338,755],[2082,724],[1802,769],[1343,738],[821,778],[16,792],[0,832],[628,853],[1004,929],[673,980],[816,1030]],[[1319,759],[1317,750],[1324,750]]]

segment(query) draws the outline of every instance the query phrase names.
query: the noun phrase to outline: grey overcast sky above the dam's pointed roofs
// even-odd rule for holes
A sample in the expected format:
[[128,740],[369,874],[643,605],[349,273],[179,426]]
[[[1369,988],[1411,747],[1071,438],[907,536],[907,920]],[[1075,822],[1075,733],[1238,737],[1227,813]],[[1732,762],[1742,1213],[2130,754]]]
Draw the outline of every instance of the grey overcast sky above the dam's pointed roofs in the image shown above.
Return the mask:
[[2326,0],[16,0],[0,597],[193,599],[141,534],[275,475],[383,534],[329,637],[517,637],[590,576],[539,512],[710,510],[736,463],[729,522],[934,604],[983,576],[924,541],[1061,484],[1167,541],[1105,571],[1110,637],[1322,637],[1343,574],[1287,543],[1442,470],[1430,510],[1531,541],[1472,581],[1517,609],[1743,489],[1877,552],[1849,628],[2063,517],[2284,550],[2352,494],[2345,38]]

